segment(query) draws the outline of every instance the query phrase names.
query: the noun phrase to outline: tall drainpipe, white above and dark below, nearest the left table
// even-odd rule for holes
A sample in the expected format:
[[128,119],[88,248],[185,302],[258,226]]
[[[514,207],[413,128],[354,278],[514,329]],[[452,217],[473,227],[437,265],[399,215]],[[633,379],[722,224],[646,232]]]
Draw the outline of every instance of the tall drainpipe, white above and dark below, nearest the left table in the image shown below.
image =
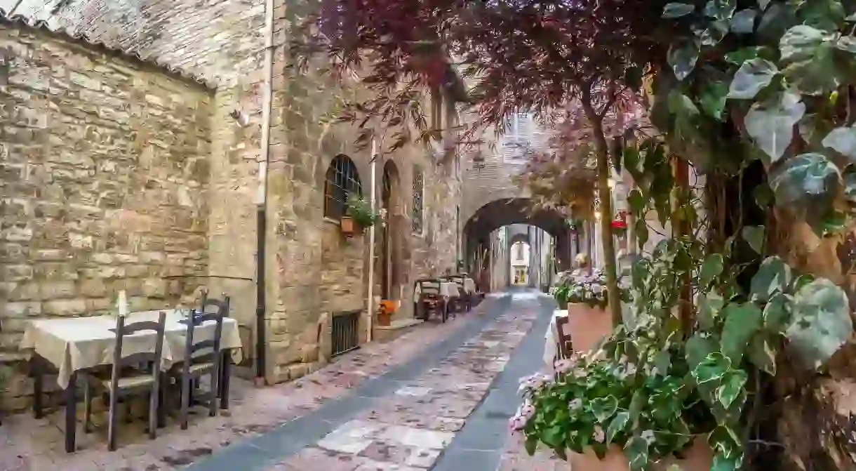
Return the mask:
[[256,385],[265,385],[265,236],[267,235],[267,170],[270,162],[270,104],[273,101],[273,7],[265,0],[265,87],[262,96],[262,139],[256,193]]

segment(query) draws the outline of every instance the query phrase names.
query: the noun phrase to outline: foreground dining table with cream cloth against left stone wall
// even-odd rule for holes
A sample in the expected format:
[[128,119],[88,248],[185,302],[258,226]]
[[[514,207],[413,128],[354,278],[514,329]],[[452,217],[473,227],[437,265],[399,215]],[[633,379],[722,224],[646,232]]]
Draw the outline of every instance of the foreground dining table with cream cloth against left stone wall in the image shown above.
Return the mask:
[[[155,321],[158,313],[165,311],[166,325],[163,342],[163,368],[169,368],[184,360],[187,334],[187,311],[178,309],[160,309],[129,313],[128,324],[141,321]],[[207,340],[214,337],[216,323],[205,322],[195,327],[194,340]],[[77,376],[78,373],[96,367],[110,365],[116,349],[116,316],[92,316],[68,319],[37,319],[31,321],[21,339],[21,349],[33,351],[31,365],[34,379],[33,413],[36,418],[42,416],[42,392],[45,362],[56,367],[56,383],[65,390],[65,449],[74,451],[77,412]],[[155,349],[157,338],[153,331],[138,331],[123,338],[122,356]],[[235,319],[223,319],[221,333],[223,349],[222,381],[217,388],[220,408],[229,408],[229,370],[232,361],[241,362],[241,335]],[[200,352],[204,353],[204,352]]]

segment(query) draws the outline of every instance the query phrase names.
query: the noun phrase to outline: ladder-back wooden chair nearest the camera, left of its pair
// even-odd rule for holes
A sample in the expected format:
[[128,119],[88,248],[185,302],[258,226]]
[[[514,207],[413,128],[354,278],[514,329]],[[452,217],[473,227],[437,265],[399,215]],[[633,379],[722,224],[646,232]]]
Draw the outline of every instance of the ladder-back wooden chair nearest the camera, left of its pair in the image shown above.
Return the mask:
[[[86,375],[84,388],[84,431],[91,430],[90,415],[92,414],[92,386],[104,389],[110,402],[107,428],[107,448],[116,450],[116,427],[119,424],[118,405],[120,399],[127,399],[141,393],[149,395],[149,438],[155,438],[158,430],[158,400],[160,399],[161,353],[163,352],[163,331],[166,325],[166,313],[158,313],[158,322],[144,321],[125,324],[125,316],[116,317],[116,350],[113,352],[113,364],[110,367],[110,378],[104,379],[97,374]],[[124,338],[140,331],[154,331],[158,336],[153,352],[140,352],[132,355],[122,355]],[[140,367],[142,368],[135,368]]]

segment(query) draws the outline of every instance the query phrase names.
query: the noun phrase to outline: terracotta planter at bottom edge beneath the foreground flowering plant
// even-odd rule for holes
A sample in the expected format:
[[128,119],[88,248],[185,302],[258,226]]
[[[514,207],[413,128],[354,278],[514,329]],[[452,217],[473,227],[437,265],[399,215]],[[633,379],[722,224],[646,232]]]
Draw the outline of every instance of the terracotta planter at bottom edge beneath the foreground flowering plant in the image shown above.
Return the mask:
[[[695,438],[693,445],[683,453],[683,456],[684,458],[680,460],[675,456],[669,456],[658,462],[654,469],[666,471],[669,466],[677,464],[681,467],[681,471],[710,471],[710,466],[713,464],[713,451],[701,436]],[[568,462],[574,471],[630,471],[627,456],[617,446],[610,447],[603,460],[598,459],[594,451],[586,450],[582,455],[568,453]]]

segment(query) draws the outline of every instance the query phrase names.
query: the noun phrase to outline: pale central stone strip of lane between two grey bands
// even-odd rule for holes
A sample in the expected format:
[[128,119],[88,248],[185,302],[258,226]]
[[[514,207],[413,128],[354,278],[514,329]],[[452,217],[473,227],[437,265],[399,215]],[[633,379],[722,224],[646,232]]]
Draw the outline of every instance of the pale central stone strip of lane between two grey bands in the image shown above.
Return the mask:
[[[434,467],[461,429],[467,426],[467,418],[479,408],[496,374],[512,357],[524,338],[520,332],[529,331],[538,318],[537,303],[515,302],[512,307],[486,325],[473,340],[439,361],[437,367],[428,369],[388,396],[375,398],[366,412],[342,424],[297,456],[284,457],[272,469],[297,469],[305,462],[306,454],[319,456],[329,452],[336,453],[338,459],[360,471],[364,468],[425,470]],[[502,441],[508,435],[506,423],[507,420],[502,420],[497,431]],[[494,454],[499,452],[496,450]],[[364,458],[371,462],[360,462]],[[493,456],[492,461],[498,462],[498,456]]]

